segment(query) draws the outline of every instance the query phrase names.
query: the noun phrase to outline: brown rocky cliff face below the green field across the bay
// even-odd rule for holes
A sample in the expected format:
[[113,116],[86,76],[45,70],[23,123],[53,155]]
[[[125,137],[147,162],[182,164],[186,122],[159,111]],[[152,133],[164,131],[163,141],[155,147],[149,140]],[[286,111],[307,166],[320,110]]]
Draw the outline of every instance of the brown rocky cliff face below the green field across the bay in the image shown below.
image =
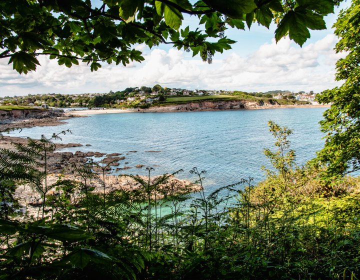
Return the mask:
[[267,101],[221,100],[221,101],[196,101],[196,102],[187,102],[180,104],[152,106],[147,109],[142,109],[141,111],[144,112],[211,111],[211,110],[275,108],[281,106],[283,105],[279,104],[273,99],[269,99]]

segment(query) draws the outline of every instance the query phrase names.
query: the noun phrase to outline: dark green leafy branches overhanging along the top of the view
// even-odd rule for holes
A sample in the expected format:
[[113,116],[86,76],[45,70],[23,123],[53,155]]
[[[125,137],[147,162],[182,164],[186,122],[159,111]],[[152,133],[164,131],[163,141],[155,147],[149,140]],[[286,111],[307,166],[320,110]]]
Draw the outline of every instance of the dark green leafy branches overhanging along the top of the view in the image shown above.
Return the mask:
[[[83,61],[91,71],[100,61],[126,65],[142,61],[135,44],[171,44],[211,62],[235,41],[224,31],[253,22],[277,23],[275,39],[289,35],[299,45],[308,29],[324,29],[323,16],[341,0],[3,0],[0,1],[0,58],[19,73],[35,70],[41,55],[71,67]],[[195,15],[201,28],[183,27]]]

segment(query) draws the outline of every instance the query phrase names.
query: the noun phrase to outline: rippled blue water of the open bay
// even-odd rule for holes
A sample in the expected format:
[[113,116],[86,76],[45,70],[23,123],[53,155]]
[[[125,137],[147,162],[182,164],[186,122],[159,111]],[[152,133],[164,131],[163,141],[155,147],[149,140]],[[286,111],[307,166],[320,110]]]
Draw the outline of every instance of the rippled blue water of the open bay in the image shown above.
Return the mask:
[[[113,113],[67,120],[53,127],[23,129],[20,135],[38,138],[70,129],[63,142],[91,144],[67,151],[119,152],[126,156],[120,166],[152,166],[152,174],[184,169],[181,178],[195,179],[188,171],[197,166],[206,170],[205,187],[211,190],[248,176],[263,178],[261,165],[270,166],[264,148],[273,148],[274,139],[267,121],[293,129],[291,147],[296,161],[303,164],[323,144],[318,121],[325,108],[282,108],[263,110]],[[18,132],[14,134],[18,135]],[[136,150],[137,152],[128,153]],[[160,152],[146,152],[156,150]],[[128,162],[124,164],[124,162]],[[124,170],[145,174],[144,167]]]

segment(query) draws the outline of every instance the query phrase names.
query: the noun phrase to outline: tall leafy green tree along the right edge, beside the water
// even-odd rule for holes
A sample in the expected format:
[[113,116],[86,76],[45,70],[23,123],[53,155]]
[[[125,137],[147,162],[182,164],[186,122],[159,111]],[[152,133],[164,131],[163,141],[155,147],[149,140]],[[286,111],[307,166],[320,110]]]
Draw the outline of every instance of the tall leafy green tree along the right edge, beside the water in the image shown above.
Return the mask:
[[325,145],[318,153],[321,162],[328,165],[329,175],[360,170],[360,0],[341,11],[334,24],[340,38],[336,52],[346,51],[345,58],[336,63],[336,80],[344,83],[318,95],[321,103],[331,103],[320,121]]

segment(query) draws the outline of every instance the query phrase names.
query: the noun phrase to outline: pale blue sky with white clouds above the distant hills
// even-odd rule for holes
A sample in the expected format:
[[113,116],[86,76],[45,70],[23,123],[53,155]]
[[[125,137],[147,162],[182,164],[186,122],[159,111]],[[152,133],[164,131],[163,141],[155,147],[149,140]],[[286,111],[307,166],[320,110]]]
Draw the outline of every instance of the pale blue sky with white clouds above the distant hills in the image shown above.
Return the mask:
[[[311,38],[300,47],[288,37],[275,43],[275,25],[267,29],[253,24],[248,30],[228,29],[225,36],[236,41],[232,49],[216,53],[212,64],[199,55],[159,45],[135,48],[143,52],[141,63],[115,65],[103,63],[91,72],[86,63],[67,68],[56,60],[39,57],[36,71],[18,74],[0,59],[0,97],[37,93],[105,93],[126,87],[160,84],[163,87],[185,89],[223,89],[265,92],[313,90],[320,92],[341,84],[334,80],[335,62],[344,53],[335,53],[337,37],[330,27],[337,13],[349,2],[343,2],[334,14],[326,16],[326,30],[310,30]],[[183,25],[195,26],[195,17],[187,16]]]

